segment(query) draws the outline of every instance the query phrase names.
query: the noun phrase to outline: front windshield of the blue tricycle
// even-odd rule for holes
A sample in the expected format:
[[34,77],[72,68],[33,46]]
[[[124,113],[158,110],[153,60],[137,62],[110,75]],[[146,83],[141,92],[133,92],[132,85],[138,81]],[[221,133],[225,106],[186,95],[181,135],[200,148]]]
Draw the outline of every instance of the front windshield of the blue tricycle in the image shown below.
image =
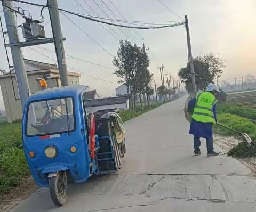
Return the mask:
[[41,136],[75,130],[71,97],[31,102],[27,113],[27,136]]

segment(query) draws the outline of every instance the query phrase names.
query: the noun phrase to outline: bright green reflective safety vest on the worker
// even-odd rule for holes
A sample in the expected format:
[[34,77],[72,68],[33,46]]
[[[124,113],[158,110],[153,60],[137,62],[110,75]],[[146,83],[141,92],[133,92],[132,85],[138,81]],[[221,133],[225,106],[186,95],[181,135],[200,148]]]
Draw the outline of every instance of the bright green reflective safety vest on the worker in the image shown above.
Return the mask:
[[215,96],[210,92],[199,93],[196,97],[196,104],[192,118],[196,121],[203,123],[214,123],[216,120],[214,118],[212,107],[218,102]]

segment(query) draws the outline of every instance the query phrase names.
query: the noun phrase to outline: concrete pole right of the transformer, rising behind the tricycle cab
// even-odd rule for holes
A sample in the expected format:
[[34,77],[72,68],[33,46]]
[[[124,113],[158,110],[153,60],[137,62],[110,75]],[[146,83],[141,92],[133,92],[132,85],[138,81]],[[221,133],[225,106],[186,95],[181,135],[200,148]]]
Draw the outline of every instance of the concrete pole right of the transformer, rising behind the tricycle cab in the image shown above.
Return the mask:
[[[9,2],[9,1],[8,1]],[[60,16],[57,0],[47,0],[49,6],[50,20],[52,25],[52,34],[54,37],[55,51],[60,72],[61,86],[68,86],[68,71],[66,56],[61,33]]]

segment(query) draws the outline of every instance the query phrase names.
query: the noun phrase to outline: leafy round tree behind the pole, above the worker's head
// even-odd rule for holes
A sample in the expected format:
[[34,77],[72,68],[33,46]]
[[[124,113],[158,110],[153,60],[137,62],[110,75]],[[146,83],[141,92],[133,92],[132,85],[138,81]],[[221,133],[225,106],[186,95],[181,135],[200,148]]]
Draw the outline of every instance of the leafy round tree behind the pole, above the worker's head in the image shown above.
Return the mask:
[[[215,77],[220,77],[222,68],[225,67],[223,61],[212,53],[207,53],[203,57],[197,56],[194,60],[196,88],[205,90],[207,85],[213,83]],[[192,81],[190,64],[179,70],[179,78],[186,83],[186,89],[192,92]]]

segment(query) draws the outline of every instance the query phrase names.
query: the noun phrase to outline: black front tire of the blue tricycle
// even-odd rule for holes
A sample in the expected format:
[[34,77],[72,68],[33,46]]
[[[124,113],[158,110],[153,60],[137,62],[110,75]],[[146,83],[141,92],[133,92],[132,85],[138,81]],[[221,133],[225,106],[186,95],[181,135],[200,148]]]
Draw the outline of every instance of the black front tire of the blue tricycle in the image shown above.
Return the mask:
[[62,206],[66,203],[68,197],[66,171],[58,172],[57,176],[49,178],[49,190],[55,205]]

